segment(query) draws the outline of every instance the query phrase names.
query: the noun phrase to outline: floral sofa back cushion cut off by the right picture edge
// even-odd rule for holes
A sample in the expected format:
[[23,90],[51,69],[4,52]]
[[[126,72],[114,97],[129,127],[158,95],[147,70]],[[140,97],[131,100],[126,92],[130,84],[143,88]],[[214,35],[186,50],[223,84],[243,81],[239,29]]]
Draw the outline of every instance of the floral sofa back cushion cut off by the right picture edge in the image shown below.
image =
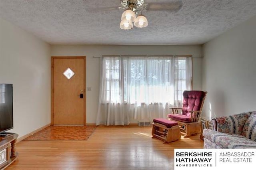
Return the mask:
[[244,124],[242,135],[256,142],[256,112],[252,112]]

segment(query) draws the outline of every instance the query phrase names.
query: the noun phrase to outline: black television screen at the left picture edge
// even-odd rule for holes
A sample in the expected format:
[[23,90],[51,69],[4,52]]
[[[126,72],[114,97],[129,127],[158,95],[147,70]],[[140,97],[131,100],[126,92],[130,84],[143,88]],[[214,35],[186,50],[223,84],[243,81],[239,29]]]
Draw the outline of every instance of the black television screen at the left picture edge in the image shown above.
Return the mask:
[[12,84],[0,84],[0,133],[13,128]]

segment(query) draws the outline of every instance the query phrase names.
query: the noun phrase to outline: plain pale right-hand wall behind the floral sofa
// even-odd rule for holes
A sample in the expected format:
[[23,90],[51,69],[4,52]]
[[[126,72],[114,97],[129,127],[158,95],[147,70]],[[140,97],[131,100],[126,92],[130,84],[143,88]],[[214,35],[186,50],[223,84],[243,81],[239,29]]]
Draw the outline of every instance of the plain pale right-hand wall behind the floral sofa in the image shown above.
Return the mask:
[[203,56],[204,114],[255,111],[256,16],[204,44]]

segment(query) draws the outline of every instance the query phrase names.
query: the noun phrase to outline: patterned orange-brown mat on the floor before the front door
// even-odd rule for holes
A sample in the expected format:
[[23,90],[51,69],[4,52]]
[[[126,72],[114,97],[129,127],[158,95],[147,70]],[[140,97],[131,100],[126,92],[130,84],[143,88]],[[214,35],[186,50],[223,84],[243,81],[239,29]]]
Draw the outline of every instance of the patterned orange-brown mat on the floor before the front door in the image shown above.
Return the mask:
[[96,126],[50,126],[23,140],[88,140]]

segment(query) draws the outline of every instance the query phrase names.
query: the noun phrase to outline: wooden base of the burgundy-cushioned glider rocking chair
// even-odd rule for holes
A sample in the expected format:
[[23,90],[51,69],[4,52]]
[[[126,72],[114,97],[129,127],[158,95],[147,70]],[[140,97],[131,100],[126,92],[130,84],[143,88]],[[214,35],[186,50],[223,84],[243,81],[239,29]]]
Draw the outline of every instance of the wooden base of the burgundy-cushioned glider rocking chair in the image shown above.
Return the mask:
[[186,123],[186,122],[175,121],[172,119],[169,119],[169,120],[178,123],[181,134],[184,134],[186,136],[192,136],[200,133],[200,122]]

